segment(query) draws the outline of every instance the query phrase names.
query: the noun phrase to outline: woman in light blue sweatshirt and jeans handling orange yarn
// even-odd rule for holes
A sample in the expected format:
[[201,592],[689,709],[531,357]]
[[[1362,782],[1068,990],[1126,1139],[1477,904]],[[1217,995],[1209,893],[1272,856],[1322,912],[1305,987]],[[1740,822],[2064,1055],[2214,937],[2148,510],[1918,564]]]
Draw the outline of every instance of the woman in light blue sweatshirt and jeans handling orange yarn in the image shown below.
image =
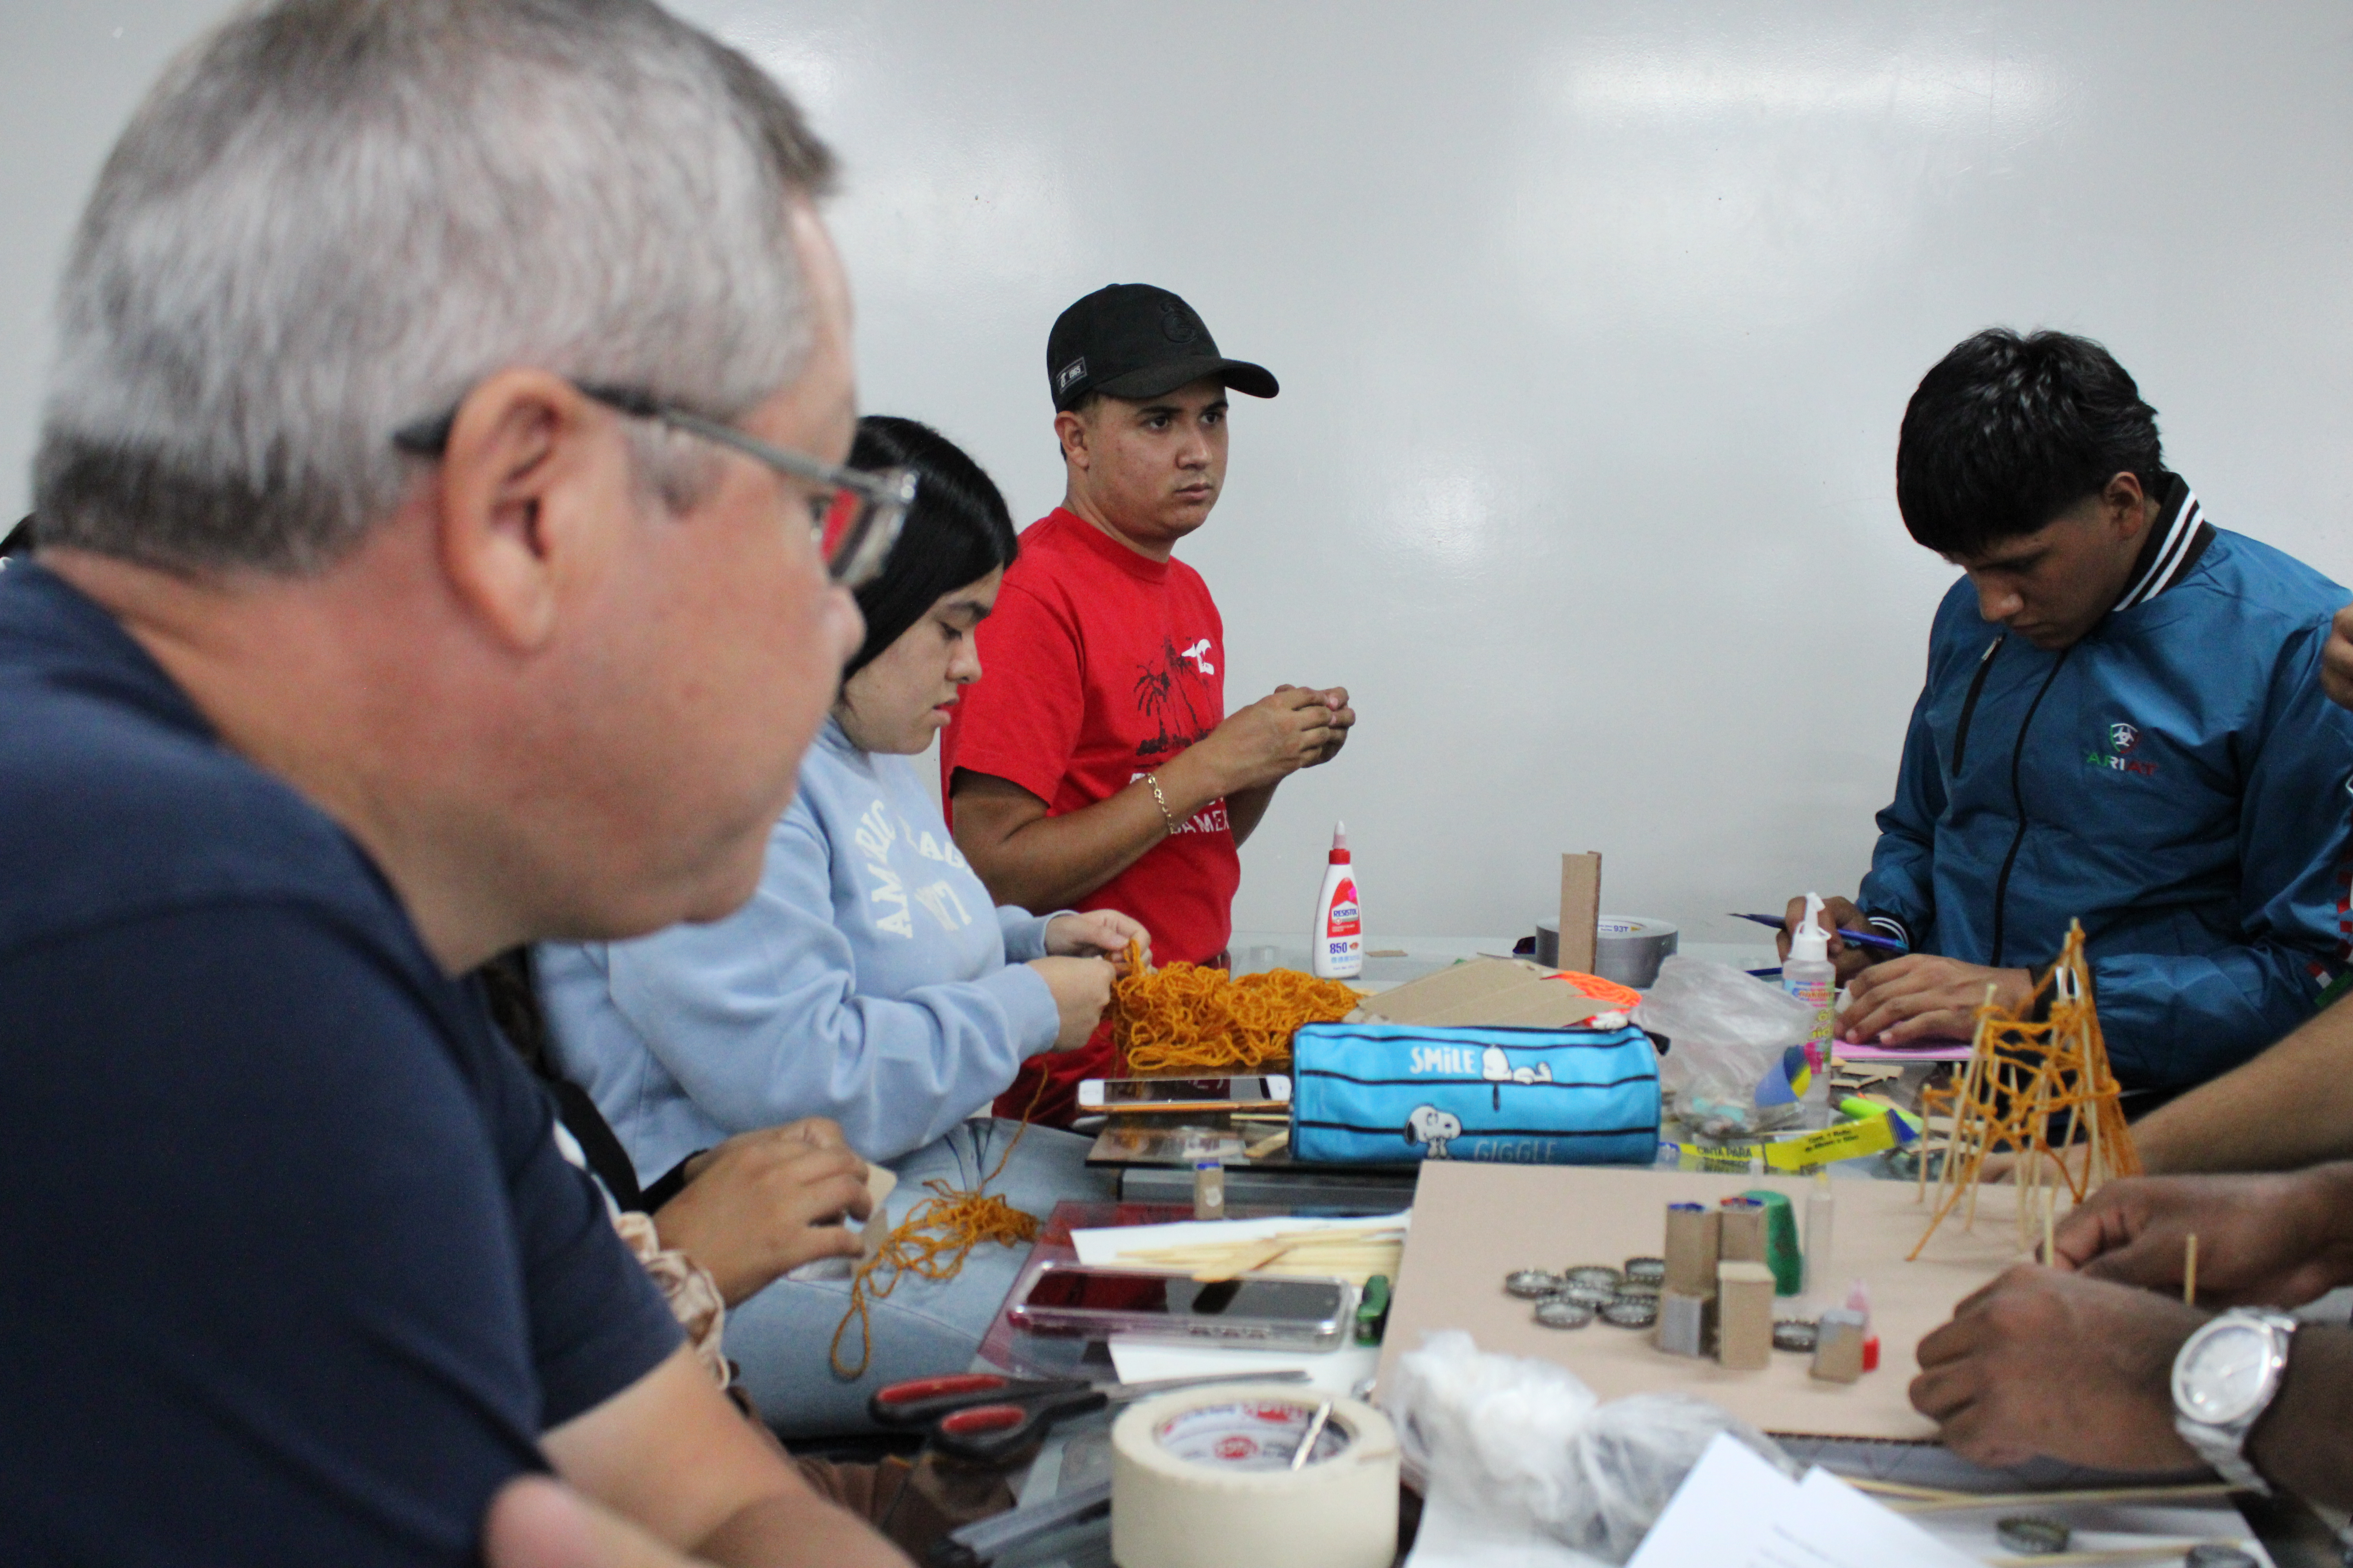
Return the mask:
[[[887,569],[859,590],[866,644],[769,835],[760,891],[708,926],[541,947],[539,985],[562,1074],[595,1098],[642,1182],[734,1133],[831,1117],[899,1173],[868,1220],[887,1227],[929,1197],[927,1180],[976,1187],[995,1168],[1016,1124],[967,1117],[1024,1058],[1082,1046],[1111,999],[1106,954],[1146,938],[1113,912],[1000,910],[965,865],[908,757],[981,677],[972,628],[1014,557],[1012,517],[988,475],[915,421],[859,421],[852,463],[913,468],[920,487]],[[1040,1220],[1066,1197],[1106,1199],[1087,1147],[1033,1126],[988,1192]],[[727,1356],[786,1434],[866,1429],[875,1387],[965,1371],[1026,1255],[988,1241],[953,1281],[899,1279],[873,1302],[854,1382],[828,1366],[847,1265],[734,1307]],[[852,1326],[845,1361],[856,1347]]]

